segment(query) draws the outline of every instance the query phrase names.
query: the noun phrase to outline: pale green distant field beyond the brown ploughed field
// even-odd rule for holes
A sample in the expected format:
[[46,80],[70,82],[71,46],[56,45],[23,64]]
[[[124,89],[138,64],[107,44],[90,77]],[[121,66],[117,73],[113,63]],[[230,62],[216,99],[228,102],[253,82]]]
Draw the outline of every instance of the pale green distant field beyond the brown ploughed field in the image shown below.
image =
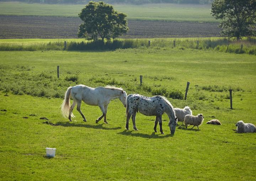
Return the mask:
[[[0,15],[65,16],[78,17],[85,5],[26,4],[21,2],[0,2]],[[218,22],[210,15],[209,5],[188,4],[146,4],[113,5],[114,9],[127,14],[127,19]]]

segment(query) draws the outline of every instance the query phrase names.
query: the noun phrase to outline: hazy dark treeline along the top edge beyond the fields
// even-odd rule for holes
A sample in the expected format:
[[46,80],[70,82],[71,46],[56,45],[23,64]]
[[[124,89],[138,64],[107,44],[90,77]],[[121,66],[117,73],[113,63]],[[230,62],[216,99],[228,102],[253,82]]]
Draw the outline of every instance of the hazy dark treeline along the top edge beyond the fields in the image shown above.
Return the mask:
[[[42,4],[87,4],[90,0],[0,0],[2,2],[20,1]],[[100,1],[100,0],[96,0]],[[212,0],[102,0],[106,3],[147,4],[147,3],[178,3],[178,4],[209,4]]]

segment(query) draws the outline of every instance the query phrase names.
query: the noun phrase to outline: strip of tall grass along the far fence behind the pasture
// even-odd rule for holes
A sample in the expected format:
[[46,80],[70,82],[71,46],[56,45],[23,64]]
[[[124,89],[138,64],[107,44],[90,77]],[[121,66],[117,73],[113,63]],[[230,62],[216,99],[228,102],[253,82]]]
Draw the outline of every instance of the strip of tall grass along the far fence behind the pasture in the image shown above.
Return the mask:
[[[228,53],[246,53],[256,55],[256,37],[243,40],[229,40],[227,38],[167,38],[167,39],[114,39],[110,41],[67,41],[65,50],[116,50],[128,48],[176,48],[214,50]],[[17,44],[0,43],[0,51],[42,51],[64,50],[64,43],[50,41],[49,43]]]

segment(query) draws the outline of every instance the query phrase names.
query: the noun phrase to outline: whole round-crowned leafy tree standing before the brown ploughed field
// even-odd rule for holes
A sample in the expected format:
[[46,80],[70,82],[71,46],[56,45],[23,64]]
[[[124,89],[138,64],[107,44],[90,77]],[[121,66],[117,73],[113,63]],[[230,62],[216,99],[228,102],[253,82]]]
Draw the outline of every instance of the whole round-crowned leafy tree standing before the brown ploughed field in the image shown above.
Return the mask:
[[117,38],[128,30],[126,16],[103,1],[90,1],[79,13],[84,23],[79,26],[78,37],[87,40]]

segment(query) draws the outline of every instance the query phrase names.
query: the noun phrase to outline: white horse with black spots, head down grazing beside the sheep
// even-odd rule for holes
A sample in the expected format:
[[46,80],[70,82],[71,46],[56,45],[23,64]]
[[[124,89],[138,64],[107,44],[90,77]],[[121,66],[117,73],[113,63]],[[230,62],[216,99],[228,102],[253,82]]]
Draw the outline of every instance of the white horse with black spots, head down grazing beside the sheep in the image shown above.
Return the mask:
[[156,131],[156,126],[159,122],[160,132],[164,134],[162,131],[162,114],[166,113],[170,119],[169,127],[171,130],[171,134],[174,134],[177,118],[175,117],[175,113],[171,103],[162,96],[154,96],[154,97],[146,97],[139,94],[129,94],[126,98],[126,129],[129,130],[129,120],[132,116],[133,121],[133,129],[138,130],[136,128],[135,119],[136,114],[139,111],[140,113],[152,116],[155,115],[155,126],[154,131]]

